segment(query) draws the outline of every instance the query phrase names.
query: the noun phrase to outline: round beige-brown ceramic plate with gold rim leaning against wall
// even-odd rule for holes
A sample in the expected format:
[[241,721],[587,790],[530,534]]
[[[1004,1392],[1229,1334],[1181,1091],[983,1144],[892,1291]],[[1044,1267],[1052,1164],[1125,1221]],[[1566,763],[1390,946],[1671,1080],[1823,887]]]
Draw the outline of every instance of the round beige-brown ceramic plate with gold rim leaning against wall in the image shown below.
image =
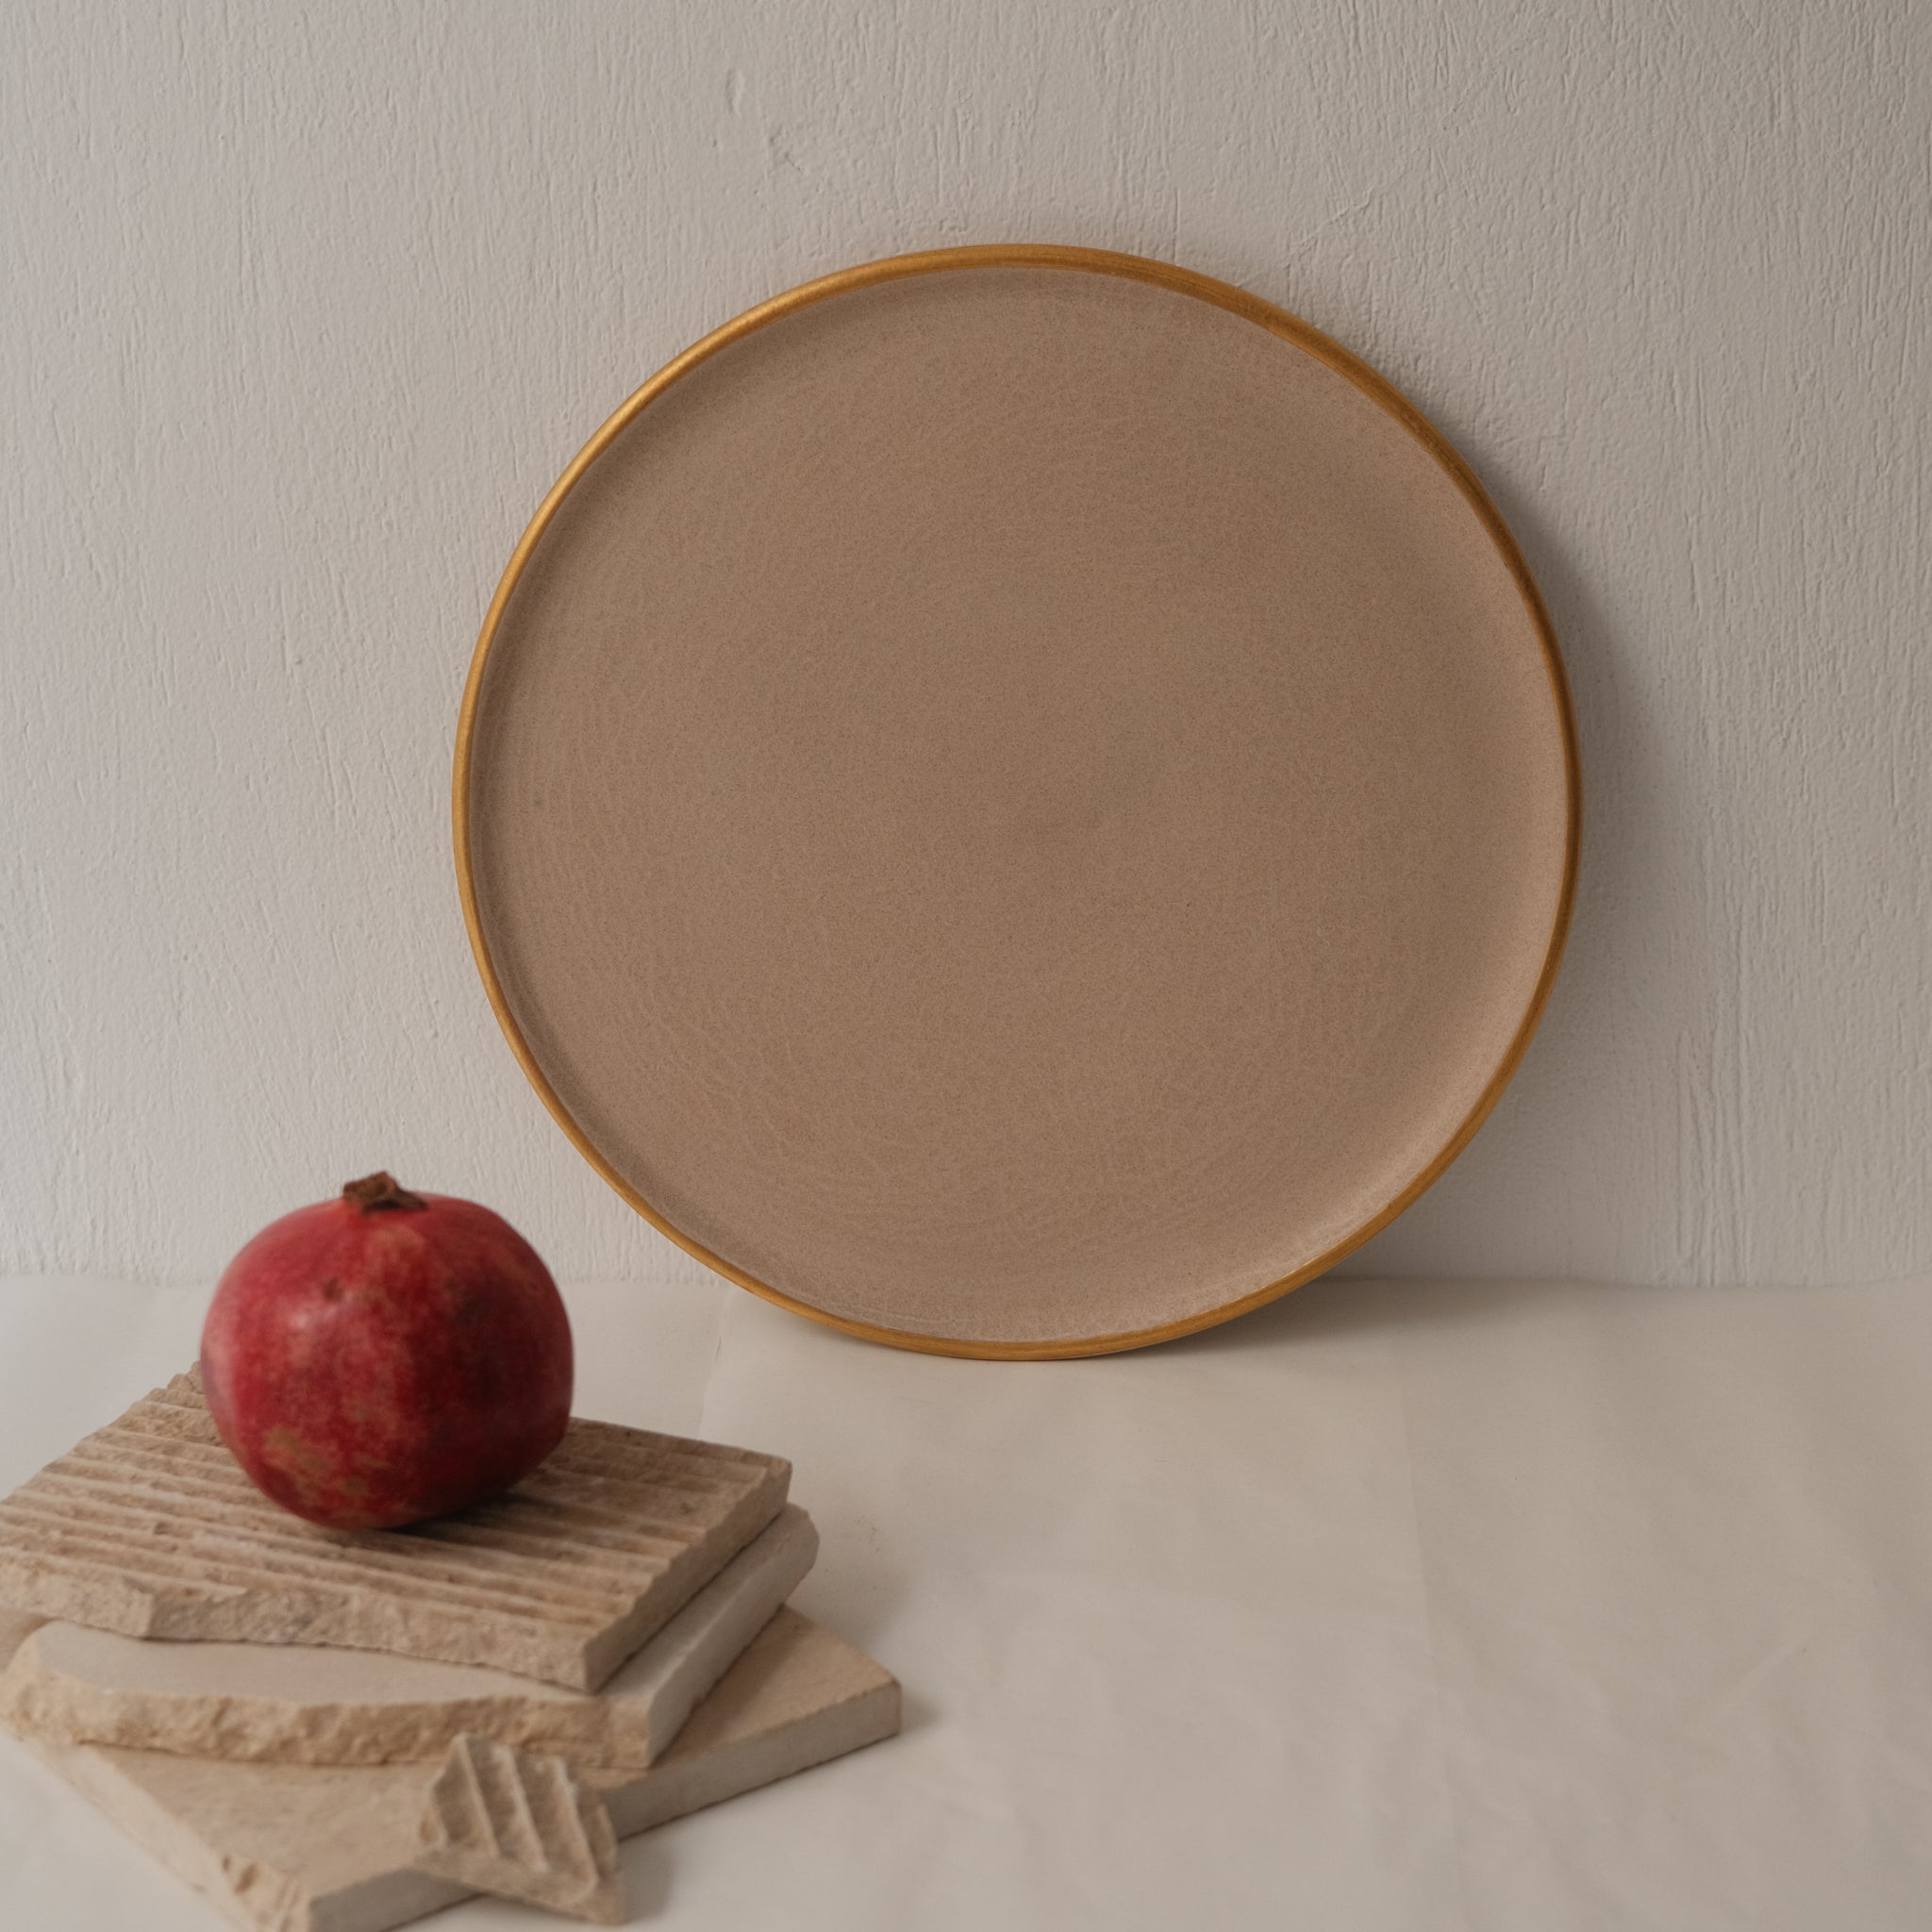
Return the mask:
[[524,1068],[657,1227],[862,1335],[1206,1327],[1405,1208],[1549,991],[1563,670],[1443,439],[1082,249],[813,282],[518,545],[456,753]]

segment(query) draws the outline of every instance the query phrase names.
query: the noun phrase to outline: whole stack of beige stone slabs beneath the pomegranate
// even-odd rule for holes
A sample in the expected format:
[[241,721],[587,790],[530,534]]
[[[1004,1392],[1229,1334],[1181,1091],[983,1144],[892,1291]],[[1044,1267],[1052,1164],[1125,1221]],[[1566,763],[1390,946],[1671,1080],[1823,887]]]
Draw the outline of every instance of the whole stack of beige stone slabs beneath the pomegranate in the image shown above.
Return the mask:
[[176,1378],[0,1499],[0,1719],[259,1932],[477,1889],[611,1922],[616,1837],[898,1729],[782,1607],[817,1551],[788,1480],[572,1422],[491,1503],[319,1530]]

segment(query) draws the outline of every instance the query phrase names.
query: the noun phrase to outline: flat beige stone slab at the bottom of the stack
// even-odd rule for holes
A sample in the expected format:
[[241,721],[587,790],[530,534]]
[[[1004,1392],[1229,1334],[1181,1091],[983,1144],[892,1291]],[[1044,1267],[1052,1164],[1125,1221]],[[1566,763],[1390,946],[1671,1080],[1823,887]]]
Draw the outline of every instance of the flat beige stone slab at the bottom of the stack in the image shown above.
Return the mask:
[[[898,1683],[831,1631],[781,1609],[657,1764],[587,1781],[628,1837],[896,1729]],[[388,1932],[469,1895],[417,1864],[433,1764],[348,1770],[35,1748],[249,1932]]]

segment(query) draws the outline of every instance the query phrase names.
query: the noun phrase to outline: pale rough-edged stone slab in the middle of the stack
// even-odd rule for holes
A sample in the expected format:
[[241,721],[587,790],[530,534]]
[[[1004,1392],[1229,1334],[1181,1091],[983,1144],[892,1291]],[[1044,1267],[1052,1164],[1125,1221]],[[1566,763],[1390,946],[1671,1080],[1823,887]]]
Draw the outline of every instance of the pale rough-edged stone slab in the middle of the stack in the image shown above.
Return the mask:
[[643,1770],[811,1569],[794,1503],[603,1690],[319,1644],[151,1644],[46,1623],[0,1671],[0,1721],[54,1745],[272,1764],[440,1758],[464,1733]]

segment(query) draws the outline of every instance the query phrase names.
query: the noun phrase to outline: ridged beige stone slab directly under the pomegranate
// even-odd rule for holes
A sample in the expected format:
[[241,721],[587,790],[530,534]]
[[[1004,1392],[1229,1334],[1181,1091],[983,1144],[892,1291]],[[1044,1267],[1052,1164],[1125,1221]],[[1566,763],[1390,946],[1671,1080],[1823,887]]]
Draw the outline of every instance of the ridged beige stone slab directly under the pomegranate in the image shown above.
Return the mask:
[[124,1636],[344,1644],[595,1690],[784,1507],[781,1457],[572,1420],[406,1530],[270,1503],[176,1376],[0,1501],[0,1602]]

